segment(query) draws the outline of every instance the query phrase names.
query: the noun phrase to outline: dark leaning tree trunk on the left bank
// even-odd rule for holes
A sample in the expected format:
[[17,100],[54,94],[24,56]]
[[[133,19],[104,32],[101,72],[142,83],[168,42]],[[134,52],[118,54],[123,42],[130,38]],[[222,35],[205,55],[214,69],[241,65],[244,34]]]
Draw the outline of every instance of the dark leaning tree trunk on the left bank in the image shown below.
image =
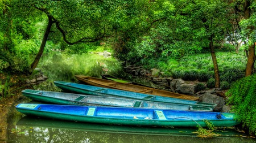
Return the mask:
[[42,40],[42,43],[40,45],[40,49],[38,51],[38,54],[36,55],[36,58],[34,60],[33,63],[31,63],[30,67],[31,67],[31,72],[36,68],[36,66],[38,66],[38,63],[39,63],[39,60],[43,54],[43,51],[44,51],[44,47],[46,46],[46,41],[47,41],[47,38],[49,36],[49,33],[51,31],[51,27],[52,27],[52,24],[53,24],[53,20],[50,16],[48,16],[48,24],[47,24],[47,28],[46,28],[46,32],[44,33],[44,37],[43,37],[43,40]]

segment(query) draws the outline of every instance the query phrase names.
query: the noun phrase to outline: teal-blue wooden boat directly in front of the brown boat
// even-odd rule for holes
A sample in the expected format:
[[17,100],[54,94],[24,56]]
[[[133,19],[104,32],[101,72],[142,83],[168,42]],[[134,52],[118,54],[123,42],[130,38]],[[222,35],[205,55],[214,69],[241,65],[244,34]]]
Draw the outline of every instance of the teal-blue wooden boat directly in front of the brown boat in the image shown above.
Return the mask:
[[119,97],[119,98],[133,98],[139,99],[143,101],[157,101],[157,102],[165,102],[165,103],[175,103],[182,105],[196,105],[203,107],[216,107],[216,104],[199,102],[199,101],[191,101],[185,99],[171,98],[171,97],[162,97],[162,96],[154,96],[143,93],[129,92],[125,90],[117,90],[117,89],[109,89],[109,88],[101,88],[98,86],[85,85],[85,84],[76,84],[76,83],[67,83],[65,81],[54,81],[56,86],[63,89],[66,92],[72,93],[80,93],[80,94],[90,94],[94,96],[108,96],[108,97]]

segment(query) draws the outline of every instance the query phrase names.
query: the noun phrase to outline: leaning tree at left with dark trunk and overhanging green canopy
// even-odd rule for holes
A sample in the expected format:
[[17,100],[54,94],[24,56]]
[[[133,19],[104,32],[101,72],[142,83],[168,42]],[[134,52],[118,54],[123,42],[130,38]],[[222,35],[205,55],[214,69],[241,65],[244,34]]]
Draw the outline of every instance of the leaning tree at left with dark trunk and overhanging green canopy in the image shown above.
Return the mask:
[[[22,7],[34,7],[47,15],[40,49],[34,62],[33,70],[39,63],[52,25],[62,34],[63,40],[69,44],[95,42],[109,37],[112,33],[112,16],[130,6],[130,1],[19,1]],[[121,17],[119,17],[121,19]]]

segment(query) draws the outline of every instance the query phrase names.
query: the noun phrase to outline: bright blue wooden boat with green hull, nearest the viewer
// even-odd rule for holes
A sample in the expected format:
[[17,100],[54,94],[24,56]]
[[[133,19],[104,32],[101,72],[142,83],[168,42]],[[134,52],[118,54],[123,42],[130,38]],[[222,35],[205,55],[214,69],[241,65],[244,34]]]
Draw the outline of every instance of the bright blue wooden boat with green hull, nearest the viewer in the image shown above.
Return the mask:
[[26,115],[43,118],[102,124],[158,127],[196,127],[201,125],[201,127],[206,127],[204,120],[211,122],[214,127],[229,127],[239,124],[234,120],[234,114],[220,112],[29,103],[17,105],[16,110]]

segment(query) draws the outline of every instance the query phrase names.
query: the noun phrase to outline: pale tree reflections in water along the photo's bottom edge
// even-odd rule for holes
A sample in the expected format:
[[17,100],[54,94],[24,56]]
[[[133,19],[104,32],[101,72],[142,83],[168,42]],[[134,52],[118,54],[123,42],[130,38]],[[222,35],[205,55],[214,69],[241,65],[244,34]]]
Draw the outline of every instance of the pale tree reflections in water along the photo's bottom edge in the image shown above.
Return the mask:
[[132,133],[113,133],[102,131],[83,131],[79,129],[62,129],[46,127],[17,126],[16,142],[81,142],[81,143],[103,143],[103,142],[254,142],[255,139],[241,137],[214,137],[201,140],[196,136],[161,136],[161,135],[141,135]]

